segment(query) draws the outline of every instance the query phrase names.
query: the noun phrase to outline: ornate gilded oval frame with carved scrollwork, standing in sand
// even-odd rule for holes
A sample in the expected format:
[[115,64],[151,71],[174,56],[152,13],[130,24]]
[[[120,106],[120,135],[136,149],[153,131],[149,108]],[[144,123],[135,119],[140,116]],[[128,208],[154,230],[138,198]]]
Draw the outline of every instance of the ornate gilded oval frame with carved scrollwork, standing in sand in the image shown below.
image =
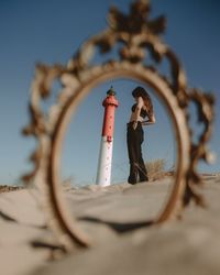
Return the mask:
[[[109,28],[85,42],[66,66],[36,65],[29,106],[31,121],[23,133],[35,136],[37,147],[31,155],[34,168],[23,179],[25,183],[34,182],[44,194],[50,224],[67,250],[72,249],[73,243],[88,246],[90,242],[77,228],[73,217],[68,217],[61,195],[57,170],[63,136],[76,106],[89,89],[105,80],[127,77],[152,86],[167,106],[175,125],[178,143],[176,182],[164,210],[150,223],[163,222],[178,215],[179,202],[186,206],[195,200],[202,205],[202,197],[196,188],[201,183],[197,165],[200,160],[210,158],[206,144],[211,134],[215,100],[210,94],[187,87],[178,58],[161,38],[166,25],[165,18],[151,20],[150,8],[146,0],[133,2],[130,14],[111,8]],[[92,63],[97,51],[103,57],[113,48],[117,48],[117,55],[112,54],[111,59],[98,65]],[[152,64],[148,56],[153,59]],[[169,65],[168,76],[156,69],[155,63],[162,61]],[[56,102],[44,113],[41,103],[51,96],[55,80],[59,81],[62,89]],[[190,102],[197,106],[198,122],[205,125],[197,144],[193,142],[193,129],[189,127]]]

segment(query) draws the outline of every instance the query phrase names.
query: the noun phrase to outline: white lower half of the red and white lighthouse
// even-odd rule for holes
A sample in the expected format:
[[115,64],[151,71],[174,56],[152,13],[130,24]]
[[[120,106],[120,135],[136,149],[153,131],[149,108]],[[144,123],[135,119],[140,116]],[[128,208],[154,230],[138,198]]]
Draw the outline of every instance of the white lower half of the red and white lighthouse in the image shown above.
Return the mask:
[[108,142],[107,136],[102,136],[97,170],[97,185],[109,186],[111,184],[112,148],[113,139],[111,142]]

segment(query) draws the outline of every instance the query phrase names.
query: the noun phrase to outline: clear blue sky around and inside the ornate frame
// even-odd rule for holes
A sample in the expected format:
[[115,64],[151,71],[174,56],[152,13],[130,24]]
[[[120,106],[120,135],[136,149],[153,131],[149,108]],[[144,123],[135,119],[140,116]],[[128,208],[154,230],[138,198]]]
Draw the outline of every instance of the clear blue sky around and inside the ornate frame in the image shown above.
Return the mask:
[[[128,0],[0,0],[0,184],[14,184],[22,173],[32,168],[28,156],[35,142],[22,138],[21,129],[29,122],[28,101],[35,63],[66,64],[85,40],[107,28],[106,14],[112,3],[128,12]],[[167,16],[164,41],[182,61],[189,86],[216,94],[217,119],[209,147],[220,156],[220,1],[152,0],[152,18]],[[101,101],[111,85],[120,101],[112,180],[127,179],[125,123],[133,103],[131,90],[136,86],[128,79],[112,79],[96,87],[78,108],[64,143],[63,178],[73,177],[81,185],[95,182],[103,112]],[[154,91],[150,91],[157,123],[145,130],[144,158],[165,158],[169,168],[176,157],[170,121]],[[201,163],[199,169],[219,172],[220,160],[212,166]]]

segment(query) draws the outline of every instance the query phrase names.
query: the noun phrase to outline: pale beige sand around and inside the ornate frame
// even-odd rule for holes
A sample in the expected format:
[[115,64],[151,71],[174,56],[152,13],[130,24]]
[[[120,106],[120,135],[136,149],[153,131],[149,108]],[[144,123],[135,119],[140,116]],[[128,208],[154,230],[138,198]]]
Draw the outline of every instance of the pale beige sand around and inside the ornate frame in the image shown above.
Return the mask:
[[[33,190],[0,194],[0,267],[2,275],[176,275],[220,274],[220,177],[205,175],[208,208],[194,204],[180,221],[143,223],[161,209],[170,180],[136,186],[69,188],[65,196],[90,249],[52,260],[54,234]],[[36,243],[47,244],[38,245]],[[50,245],[51,244],[51,245]]]

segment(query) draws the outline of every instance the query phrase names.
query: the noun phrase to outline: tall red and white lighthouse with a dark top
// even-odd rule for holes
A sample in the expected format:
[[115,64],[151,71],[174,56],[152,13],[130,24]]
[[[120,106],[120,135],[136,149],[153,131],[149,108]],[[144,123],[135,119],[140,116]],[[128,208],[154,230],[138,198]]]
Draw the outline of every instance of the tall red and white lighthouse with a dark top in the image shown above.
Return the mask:
[[105,107],[105,116],[96,183],[100,186],[108,186],[111,180],[114,111],[119,106],[116,98],[116,91],[112,87],[107,91],[107,97],[103,100],[102,106]]

